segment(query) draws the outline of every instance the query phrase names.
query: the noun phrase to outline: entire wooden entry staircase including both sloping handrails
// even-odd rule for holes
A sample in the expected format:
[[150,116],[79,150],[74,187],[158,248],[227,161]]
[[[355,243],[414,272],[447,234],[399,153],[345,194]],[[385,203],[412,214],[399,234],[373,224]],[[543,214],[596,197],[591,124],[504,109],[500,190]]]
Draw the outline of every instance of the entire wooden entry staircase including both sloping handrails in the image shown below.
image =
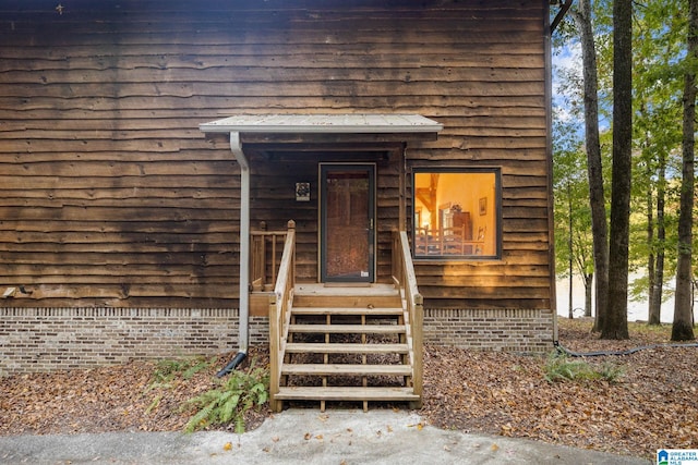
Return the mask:
[[362,402],[364,411],[371,401],[421,406],[423,297],[405,231],[393,233],[392,257],[394,285],[297,284],[289,221],[267,296],[274,411],[289,401],[318,401],[323,411],[327,401]]

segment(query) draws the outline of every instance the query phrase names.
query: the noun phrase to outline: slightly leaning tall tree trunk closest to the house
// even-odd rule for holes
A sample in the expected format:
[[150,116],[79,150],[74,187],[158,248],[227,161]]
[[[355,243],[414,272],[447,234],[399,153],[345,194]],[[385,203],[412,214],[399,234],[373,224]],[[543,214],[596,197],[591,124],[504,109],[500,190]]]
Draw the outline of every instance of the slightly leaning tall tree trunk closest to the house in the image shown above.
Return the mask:
[[587,171],[589,176],[589,201],[591,207],[591,232],[593,234],[594,274],[597,277],[597,319],[599,331],[606,315],[609,290],[609,234],[606,207],[603,192],[603,167],[599,140],[599,79],[597,74],[597,49],[591,26],[590,0],[579,0],[571,12],[581,40],[585,79],[585,137],[587,146]]

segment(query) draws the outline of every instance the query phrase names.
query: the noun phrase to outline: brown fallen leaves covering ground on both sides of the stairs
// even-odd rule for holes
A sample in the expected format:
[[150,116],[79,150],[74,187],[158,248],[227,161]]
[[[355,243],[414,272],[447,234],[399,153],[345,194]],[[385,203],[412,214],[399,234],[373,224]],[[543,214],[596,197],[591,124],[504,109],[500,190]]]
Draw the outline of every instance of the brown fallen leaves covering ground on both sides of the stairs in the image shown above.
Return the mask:
[[[667,342],[671,330],[630,328],[629,341],[600,341],[590,332],[591,320],[561,318],[559,340],[576,352],[619,351]],[[263,351],[254,356],[267,363]],[[182,405],[213,388],[215,372],[231,357],[221,355],[189,379],[157,382],[151,362],[1,378],[0,435],[183,430],[193,412]],[[440,428],[646,458],[660,448],[698,448],[698,348],[657,347],[586,360],[619,365],[624,375],[617,382],[551,383],[545,357],[429,346],[419,413]],[[251,411],[246,428],[268,415],[268,408]]]

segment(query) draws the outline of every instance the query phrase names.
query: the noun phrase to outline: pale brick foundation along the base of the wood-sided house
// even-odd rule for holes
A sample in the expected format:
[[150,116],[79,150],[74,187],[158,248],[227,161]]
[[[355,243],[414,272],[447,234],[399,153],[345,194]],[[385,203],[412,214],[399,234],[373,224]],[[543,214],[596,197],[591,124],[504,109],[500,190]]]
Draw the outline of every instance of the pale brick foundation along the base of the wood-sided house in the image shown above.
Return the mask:
[[[0,376],[231,352],[238,317],[213,308],[0,308]],[[250,317],[250,345],[266,343],[268,318]],[[425,309],[424,343],[544,353],[553,313]]]

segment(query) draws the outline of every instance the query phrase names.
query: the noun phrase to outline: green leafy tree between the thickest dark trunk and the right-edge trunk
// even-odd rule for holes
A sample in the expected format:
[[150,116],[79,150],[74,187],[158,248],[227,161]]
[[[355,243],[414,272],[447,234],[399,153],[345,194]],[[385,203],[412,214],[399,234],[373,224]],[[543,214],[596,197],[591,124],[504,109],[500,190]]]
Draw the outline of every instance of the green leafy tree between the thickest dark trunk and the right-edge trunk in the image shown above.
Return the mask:
[[630,261],[647,267],[630,294],[649,297],[649,323],[660,323],[663,290],[675,268],[676,223],[671,188],[681,144],[681,79],[675,63],[685,50],[681,0],[639,4],[634,21],[634,163]]

